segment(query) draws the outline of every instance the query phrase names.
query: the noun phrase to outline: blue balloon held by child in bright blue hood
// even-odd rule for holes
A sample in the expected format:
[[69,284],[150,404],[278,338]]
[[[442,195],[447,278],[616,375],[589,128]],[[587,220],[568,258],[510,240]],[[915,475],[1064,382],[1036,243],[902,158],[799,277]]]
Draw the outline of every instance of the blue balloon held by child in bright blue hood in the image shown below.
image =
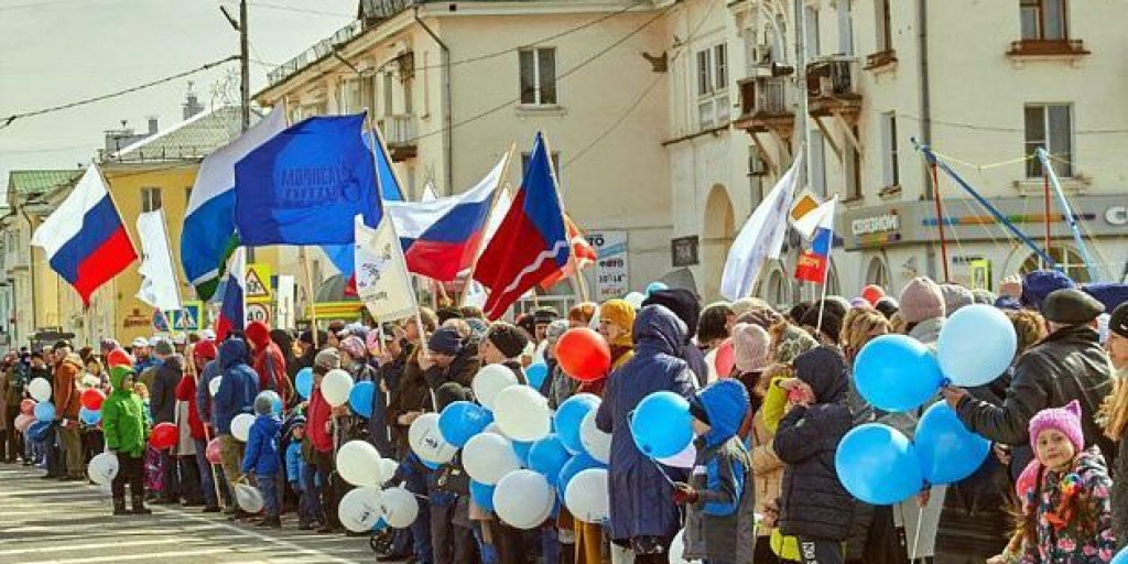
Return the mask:
[[635,444],[651,458],[669,458],[694,440],[689,402],[672,391],[655,391],[638,402],[631,415]]

